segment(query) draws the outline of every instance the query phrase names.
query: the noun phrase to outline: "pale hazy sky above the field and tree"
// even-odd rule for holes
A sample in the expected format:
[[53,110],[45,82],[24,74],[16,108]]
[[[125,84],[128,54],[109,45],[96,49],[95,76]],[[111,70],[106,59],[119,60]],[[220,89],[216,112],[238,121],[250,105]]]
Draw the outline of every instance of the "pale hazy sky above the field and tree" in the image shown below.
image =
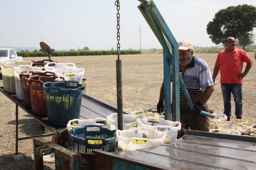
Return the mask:
[[[37,47],[43,41],[54,49],[116,49],[115,0],[0,0],[0,46]],[[256,0],[154,0],[175,39],[200,47],[216,46],[206,25],[220,9]],[[137,6],[120,0],[122,49],[162,48]],[[256,33],[256,30],[254,30]]]

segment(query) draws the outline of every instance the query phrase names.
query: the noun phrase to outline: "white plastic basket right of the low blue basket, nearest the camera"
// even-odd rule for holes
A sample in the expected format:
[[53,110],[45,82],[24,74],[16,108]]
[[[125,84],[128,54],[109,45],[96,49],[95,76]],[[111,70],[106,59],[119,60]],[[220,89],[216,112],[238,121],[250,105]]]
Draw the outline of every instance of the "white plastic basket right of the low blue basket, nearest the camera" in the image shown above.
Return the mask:
[[[150,139],[143,138],[143,133],[148,135]],[[165,137],[166,137],[166,133],[152,131],[146,128],[135,128],[135,129],[116,131],[116,141],[118,142],[119,151],[136,150],[136,149],[142,149],[142,148],[161,145],[161,144],[164,144]],[[135,143],[132,143],[133,140],[146,141],[146,144],[135,144]]]

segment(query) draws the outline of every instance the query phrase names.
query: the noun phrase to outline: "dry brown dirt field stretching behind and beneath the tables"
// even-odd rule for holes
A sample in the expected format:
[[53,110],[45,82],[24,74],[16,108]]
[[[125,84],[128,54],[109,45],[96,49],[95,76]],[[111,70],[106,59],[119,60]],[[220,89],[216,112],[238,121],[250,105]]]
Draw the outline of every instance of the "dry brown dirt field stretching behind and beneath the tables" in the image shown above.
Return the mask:
[[[217,54],[195,55],[204,59],[213,71]],[[249,53],[249,55],[255,61],[253,53]],[[88,79],[89,94],[113,106],[116,106],[116,58],[116,56],[52,57],[55,61],[72,62],[77,67],[85,68],[84,78]],[[42,59],[44,58],[33,57],[24,58],[24,61]],[[122,55],[121,59],[124,108],[155,108],[163,80],[162,55]],[[219,80],[220,76],[216,79],[215,91],[208,101],[208,106],[210,109],[214,109],[215,113],[223,112]],[[255,124],[255,62],[244,80],[243,119],[248,120],[250,124]],[[2,86],[2,80],[0,80],[0,86]],[[15,152],[15,104],[2,93],[0,93],[0,100],[2,103],[0,107],[0,124],[2,125],[0,129],[0,169],[34,168],[34,161],[31,159],[33,152],[31,139],[19,141],[19,152],[23,154],[24,161],[14,162],[10,157]],[[19,137],[44,133],[32,117],[28,116],[22,109],[19,111]],[[232,115],[234,115],[234,102],[232,102]],[[45,169],[54,169],[54,164],[45,164]]]

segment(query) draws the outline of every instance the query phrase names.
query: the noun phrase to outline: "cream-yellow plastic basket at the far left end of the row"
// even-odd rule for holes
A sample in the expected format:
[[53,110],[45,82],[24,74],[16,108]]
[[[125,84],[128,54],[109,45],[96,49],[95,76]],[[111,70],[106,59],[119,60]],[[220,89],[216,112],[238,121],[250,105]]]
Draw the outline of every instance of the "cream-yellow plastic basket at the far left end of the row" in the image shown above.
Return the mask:
[[25,61],[6,60],[6,61],[2,61],[0,65],[2,68],[2,79],[3,79],[4,90],[8,93],[16,93],[13,68],[19,65],[31,66],[32,63],[25,62]]

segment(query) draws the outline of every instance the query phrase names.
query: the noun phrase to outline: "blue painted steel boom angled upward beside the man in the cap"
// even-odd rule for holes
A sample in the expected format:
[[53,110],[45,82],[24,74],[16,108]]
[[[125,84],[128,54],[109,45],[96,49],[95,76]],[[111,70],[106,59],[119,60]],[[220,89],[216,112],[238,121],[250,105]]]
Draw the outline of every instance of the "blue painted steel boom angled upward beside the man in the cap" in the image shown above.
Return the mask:
[[[188,91],[184,85],[182,78],[180,78],[179,73],[179,51],[178,51],[178,43],[174,38],[174,35],[170,31],[168,25],[164,21],[162,15],[160,14],[158,8],[152,0],[138,0],[142,2],[138,8],[145,20],[148,22],[150,28],[156,35],[158,41],[163,47],[164,53],[164,110],[165,110],[165,119],[170,120],[171,109],[171,90],[170,90],[170,64],[172,63],[172,90],[173,90],[173,110],[172,110],[172,120],[180,121],[180,86],[186,96],[188,104],[190,106],[190,110],[194,109]],[[170,51],[170,46],[172,51]],[[173,56],[173,57],[172,57]],[[170,62],[171,61],[171,62]],[[207,113],[205,111],[201,111],[202,115],[206,115],[209,117],[214,117],[212,114]]]

